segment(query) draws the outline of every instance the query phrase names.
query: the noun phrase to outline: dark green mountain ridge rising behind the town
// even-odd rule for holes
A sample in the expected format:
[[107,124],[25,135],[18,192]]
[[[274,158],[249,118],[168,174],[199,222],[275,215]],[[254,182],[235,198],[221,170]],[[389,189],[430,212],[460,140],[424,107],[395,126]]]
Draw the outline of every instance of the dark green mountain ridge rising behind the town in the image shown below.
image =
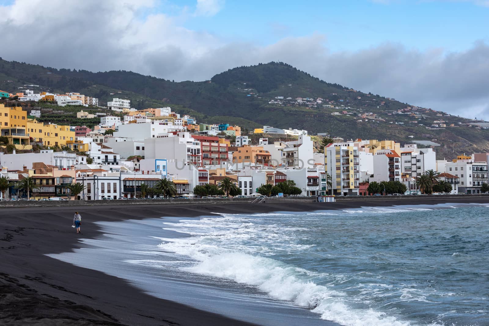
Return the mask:
[[[415,107],[327,83],[285,63],[241,66],[208,81],[176,83],[131,71],[94,73],[0,59],[0,89],[13,92],[27,84],[56,92],[79,91],[98,97],[101,104],[120,97],[131,99],[137,109],[172,106],[200,122],[229,122],[247,129],[267,125],[330,132],[345,139],[436,139],[442,145],[436,149],[438,158],[489,151],[489,130],[469,127],[465,118],[431,109],[409,110]],[[426,128],[439,125],[439,120],[447,128]]]

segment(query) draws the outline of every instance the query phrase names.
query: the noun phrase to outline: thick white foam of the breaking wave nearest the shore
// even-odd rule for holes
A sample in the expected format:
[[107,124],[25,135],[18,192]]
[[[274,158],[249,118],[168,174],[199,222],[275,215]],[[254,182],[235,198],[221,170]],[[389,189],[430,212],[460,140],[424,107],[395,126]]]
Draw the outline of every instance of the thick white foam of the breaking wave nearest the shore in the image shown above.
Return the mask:
[[352,309],[344,303],[343,292],[310,281],[311,276],[320,273],[201,243],[198,238],[175,239],[159,247],[198,261],[194,266],[184,268],[189,272],[256,286],[273,298],[310,307],[312,312],[320,314],[325,320],[346,326],[410,325],[372,309]]

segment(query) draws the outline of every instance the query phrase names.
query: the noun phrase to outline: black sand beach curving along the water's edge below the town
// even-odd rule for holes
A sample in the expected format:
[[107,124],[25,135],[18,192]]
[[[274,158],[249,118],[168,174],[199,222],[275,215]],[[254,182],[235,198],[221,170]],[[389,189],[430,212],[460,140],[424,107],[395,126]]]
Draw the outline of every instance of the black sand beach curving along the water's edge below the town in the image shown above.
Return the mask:
[[[152,297],[122,279],[45,256],[77,248],[79,238],[99,236],[96,221],[446,202],[489,203],[489,198],[0,208],[0,320],[8,325],[250,325]],[[74,211],[83,216],[82,235],[71,228]]]

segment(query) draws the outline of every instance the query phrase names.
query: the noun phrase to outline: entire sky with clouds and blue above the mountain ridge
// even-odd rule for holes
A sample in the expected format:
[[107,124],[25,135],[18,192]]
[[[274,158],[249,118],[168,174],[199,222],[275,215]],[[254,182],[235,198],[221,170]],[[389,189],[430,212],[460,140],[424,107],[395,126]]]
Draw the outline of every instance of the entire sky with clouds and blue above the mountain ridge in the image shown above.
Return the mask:
[[489,120],[489,0],[0,0],[0,57],[202,81],[281,61]]

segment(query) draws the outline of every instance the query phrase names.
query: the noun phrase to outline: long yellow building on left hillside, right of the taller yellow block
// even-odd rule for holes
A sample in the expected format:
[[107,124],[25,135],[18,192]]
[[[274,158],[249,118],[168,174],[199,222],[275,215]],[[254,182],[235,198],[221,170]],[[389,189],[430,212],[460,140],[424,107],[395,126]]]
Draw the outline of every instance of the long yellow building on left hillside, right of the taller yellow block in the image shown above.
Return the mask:
[[27,121],[26,133],[35,142],[43,143],[44,146],[65,146],[68,140],[75,140],[75,132],[69,130],[69,126],[58,126],[55,124],[44,124],[37,120]]

